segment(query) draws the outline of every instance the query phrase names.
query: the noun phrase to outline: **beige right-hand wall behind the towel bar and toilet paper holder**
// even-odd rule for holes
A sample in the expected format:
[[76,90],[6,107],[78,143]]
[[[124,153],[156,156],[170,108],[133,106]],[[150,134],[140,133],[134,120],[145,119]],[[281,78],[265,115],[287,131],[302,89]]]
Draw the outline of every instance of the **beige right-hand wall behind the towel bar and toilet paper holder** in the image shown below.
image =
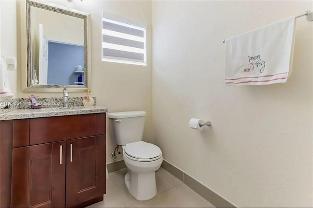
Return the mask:
[[[225,86],[224,38],[313,1],[152,1],[154,142],[238,207],[313,206],[313,22],[297,19],[285,84]],[[210,120],[202,132],[190,118]]]

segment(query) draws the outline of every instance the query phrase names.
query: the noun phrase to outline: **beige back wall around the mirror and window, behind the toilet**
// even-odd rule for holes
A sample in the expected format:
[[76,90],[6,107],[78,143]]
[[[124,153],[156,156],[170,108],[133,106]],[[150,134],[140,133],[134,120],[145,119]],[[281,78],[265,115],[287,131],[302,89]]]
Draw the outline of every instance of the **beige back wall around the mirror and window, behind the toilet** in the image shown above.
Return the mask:
[[[97,105],[107,107],[109,112],[146,111],[144,139],[149,141],[149,138],[152,138],[151,1],[73,0],[69,2],[67,0],[49,0],[49,2],[91,14],[91,95],[96,96]],[[16,32],[16,2],[15,0],[1,0],[0,3],[1,17],[2,10],[7,9],[5,11],[6,18],[1,18],[1,43],[2,40],[6,42],[2,48],[2,53],[8,53],[12,50],[11,56],[17,56],[18,46],[16,46],[17,38],[15,37],[17,34],[19,36],[19,33]],[[101,60],[102,10],[147,23],[147,66],[110,63]],[[5,25],[5,29],[9,29],[2,30],[2,25]],[[3,34],[4,37],[2,37]],[[17,88],[15,97],[27,97],[31,94],[21,91],[21,70],[19,68],[10,80],[10,84]],[[41,97],[63,96],[62,89],[59,93],[35,93],[35,95]],[[83,95],[85,93],[69,94],[70,97]],[[109,122],[107,124],[109,126]],[[114,151],[114,147],[115,143],[108,127],[107,163],[113,161],[110,154]],[[122,156],[119,155],[117,160],[121,159]]]

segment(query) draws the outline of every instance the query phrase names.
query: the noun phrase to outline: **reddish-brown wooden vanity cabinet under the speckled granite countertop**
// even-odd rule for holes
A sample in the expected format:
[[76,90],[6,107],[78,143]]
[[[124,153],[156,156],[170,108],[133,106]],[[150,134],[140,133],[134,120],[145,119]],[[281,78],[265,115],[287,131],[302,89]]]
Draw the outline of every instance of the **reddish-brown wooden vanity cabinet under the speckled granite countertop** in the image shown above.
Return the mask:
[[13,148],[11,207],[85,207],[103,200],[105,113],[24,120],[29,136],[18,140],[28,142],[13,139],[28,145]]

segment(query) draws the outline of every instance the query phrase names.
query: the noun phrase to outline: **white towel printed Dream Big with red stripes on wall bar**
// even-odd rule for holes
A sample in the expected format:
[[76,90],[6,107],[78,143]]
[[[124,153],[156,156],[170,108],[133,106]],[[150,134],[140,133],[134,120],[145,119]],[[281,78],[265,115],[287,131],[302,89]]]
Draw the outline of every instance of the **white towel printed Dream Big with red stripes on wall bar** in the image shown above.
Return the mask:
[[291,75],[295,17],[225,40],[226,85],[283,83]]

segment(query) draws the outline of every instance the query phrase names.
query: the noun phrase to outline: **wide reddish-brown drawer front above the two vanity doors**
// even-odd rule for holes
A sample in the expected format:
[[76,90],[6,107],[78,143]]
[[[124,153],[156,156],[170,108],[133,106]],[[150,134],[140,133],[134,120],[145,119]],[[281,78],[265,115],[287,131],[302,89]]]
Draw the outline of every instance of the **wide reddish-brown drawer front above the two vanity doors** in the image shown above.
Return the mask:
[[68,115],[30,119],[30,145],[96,134],[96,115]]

